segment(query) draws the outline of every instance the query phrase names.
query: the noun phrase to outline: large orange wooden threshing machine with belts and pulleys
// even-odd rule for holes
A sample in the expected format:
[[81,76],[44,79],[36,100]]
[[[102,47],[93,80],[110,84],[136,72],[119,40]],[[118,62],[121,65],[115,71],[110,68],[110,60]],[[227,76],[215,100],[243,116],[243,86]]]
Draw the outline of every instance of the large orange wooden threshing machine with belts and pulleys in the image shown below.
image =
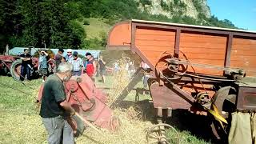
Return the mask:
[[[171,110],[199,112],[212,117],[214,135],[222,138],[232,112],[256,110],[256,32],[131,20],[110,30],[107,49],[130,50],[150,66],[160,119]],[[141,77],[134,76],[116,103]]]

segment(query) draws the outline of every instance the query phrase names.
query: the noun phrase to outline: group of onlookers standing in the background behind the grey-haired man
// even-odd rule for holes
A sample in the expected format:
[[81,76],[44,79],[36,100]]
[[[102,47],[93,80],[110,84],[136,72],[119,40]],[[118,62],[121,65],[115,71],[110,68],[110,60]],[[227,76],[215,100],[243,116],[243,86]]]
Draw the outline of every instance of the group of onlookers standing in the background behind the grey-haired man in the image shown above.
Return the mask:
[[[98,61],[94,59],[94,56],[89,52],[86,53],[85,59],[78,57],[78,52],[73,51],[71,49],[66,50],[66,55],[63,56],[64,50],[59,49],[58,53],[54,56],[54,72],[57,72],[58,66],[61,62],[69,62],[73,66],[73,73],[72,75],[81,76],[82,74],[87,74],[93,81],[95,75],[100,74],[102,78],[102,82],[106,82],[105,74],[106,74],[106,61],[103,60],[102,55],[99,56]],[[22,69],[21,69],[21,76],[20,80],[24,80],[25,76],[26,79],[30,80],[30,70],[32,66],[32,57],[29,54],[29,50],[25,49],[24,54],[21,54],[22,57]],[[49,76],[49,62],[51,58],[46,53],[46,51],[41,50],[39,55],[39,65],[38,70],[39,74],[42,75],[43,82]]]

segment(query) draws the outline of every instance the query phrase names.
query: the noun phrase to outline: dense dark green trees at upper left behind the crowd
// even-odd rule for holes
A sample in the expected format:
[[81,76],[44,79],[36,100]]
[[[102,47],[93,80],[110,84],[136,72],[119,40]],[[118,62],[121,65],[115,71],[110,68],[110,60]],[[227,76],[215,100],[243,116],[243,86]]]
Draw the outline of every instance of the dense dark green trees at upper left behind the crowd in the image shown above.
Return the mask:
[[[78,2],[66,0],[1,1],[2,45],[78,48],[86,37],[74,22],[82,18]],[[11,7],[8,7],[11,6]],[[5,10],[6,9],[6,10]],[[10,11],[8,11],[10,9]],[[10,17],[11,15],[11,17]],[[1,46],[2,48],[2,46]],[[2,50],[1,50],[2,51]],[[0,52],[1,52],[0,51]]]

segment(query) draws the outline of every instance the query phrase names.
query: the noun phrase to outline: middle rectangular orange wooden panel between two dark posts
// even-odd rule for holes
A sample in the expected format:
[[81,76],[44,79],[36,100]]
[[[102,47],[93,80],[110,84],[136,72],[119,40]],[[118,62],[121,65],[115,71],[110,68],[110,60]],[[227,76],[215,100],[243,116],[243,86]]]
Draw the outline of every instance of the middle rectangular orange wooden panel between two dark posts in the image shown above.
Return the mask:
[[[226,54],[225,36],[216,36],[209,34],[182,33],[180,37],[180,48],[190,62],[210,64],[215,66],[224,66]],[[182,54],[179,58],[184,59]],[[196,73],[222,75],[222,70],[212,70],[194,66]],[[194,72],[191,66],[188,71]]]

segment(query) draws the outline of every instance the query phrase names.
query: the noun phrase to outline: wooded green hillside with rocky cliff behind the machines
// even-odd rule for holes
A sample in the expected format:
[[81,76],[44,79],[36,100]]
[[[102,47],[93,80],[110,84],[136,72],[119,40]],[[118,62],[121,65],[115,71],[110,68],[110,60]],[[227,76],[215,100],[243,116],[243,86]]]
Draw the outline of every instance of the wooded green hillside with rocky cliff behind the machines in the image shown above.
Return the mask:
[[206,0],[18,0],[0,2],[0,53],[14,46],[104,49],[107,31],[129,19],[237,28]]

